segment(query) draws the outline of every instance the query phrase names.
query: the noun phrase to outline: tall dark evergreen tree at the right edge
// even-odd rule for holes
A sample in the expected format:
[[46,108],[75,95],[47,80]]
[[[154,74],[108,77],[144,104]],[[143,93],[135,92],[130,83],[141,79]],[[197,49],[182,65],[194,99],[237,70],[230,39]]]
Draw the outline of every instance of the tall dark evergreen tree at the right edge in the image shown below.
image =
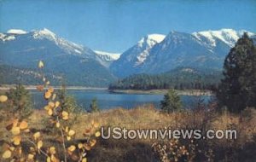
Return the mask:
[[244,33],[224,61],[224,79],[217,92],[220,107],[239,113],[246,107],[256,107],[256,49],[253,40]]

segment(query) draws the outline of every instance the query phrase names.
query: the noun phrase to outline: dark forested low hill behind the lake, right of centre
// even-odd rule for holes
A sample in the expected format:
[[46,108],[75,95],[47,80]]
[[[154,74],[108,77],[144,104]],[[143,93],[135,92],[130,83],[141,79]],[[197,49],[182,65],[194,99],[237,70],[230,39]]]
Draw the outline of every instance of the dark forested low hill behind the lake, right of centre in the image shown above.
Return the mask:
[[109,90],[212,90],[216,89],[222,72],[212,69],[178,67],[160,74],[136,74],[119,79]]

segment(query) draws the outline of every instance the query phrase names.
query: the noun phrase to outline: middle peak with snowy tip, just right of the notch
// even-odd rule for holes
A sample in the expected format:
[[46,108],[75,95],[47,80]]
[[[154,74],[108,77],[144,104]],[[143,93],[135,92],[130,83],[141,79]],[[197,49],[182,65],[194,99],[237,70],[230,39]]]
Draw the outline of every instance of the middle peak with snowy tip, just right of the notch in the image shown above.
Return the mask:
[[161,34],[150,34],[137,42],[133,47],[120,55],[119,60],[113,61],[110,66],[112,72],[124,77],[136,73],[149,56],[149,51],[155,44],[160,43],[166,36]]

